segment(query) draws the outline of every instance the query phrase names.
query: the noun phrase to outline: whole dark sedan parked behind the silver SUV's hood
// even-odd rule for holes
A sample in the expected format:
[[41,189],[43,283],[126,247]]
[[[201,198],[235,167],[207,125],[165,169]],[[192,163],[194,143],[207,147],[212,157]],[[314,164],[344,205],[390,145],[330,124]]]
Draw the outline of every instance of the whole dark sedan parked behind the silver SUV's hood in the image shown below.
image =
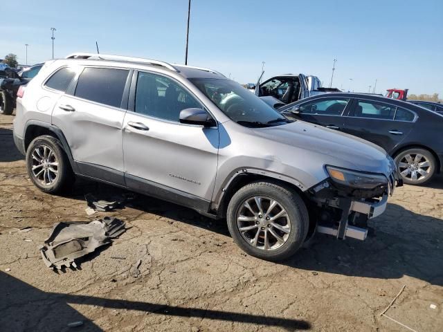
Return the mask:
[[363,93],[329,93],[279,111],[383,147],[410,185],[427,183],[443,171],[443,116],[415,104]]

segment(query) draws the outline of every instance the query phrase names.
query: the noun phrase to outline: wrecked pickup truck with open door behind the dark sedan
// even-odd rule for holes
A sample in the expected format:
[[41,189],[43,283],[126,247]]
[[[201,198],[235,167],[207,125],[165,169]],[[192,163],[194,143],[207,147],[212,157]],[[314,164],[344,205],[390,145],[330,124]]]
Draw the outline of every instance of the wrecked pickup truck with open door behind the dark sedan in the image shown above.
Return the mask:
[[304,74],[274,76],[263,83],[256,84],[254,88],[255,95],[262,98],[266,104],[275,109],[312,95],[337,91],[339,92],[340,90],[336,88],[323,88],[318,77]]

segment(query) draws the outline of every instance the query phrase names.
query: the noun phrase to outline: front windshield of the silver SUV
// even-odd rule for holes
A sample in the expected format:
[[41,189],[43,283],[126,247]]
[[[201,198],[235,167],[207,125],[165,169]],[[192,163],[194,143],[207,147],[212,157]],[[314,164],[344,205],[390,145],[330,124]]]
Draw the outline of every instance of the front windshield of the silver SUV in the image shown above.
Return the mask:
[[231,120],[245,127],[271,127],[291,122],[243,86],[230,80],[190,79]]

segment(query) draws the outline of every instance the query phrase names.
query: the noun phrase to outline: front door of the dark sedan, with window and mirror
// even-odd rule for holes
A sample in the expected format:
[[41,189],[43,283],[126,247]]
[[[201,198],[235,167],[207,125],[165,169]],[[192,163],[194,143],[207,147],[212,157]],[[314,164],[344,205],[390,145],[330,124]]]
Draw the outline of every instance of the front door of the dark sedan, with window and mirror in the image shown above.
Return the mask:
[[[329,129],[343,129],[343,113],[347,112],[350,98],[324,97],[298,104],[296,118],[319,124]],[[289,113],[290,115],[290,113]]]

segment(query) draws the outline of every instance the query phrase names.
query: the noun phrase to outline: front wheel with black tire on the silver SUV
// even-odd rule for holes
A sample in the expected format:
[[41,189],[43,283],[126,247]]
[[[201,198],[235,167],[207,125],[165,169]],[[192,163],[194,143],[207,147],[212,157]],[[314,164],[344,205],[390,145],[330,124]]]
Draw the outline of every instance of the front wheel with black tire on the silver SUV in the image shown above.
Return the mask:
[[[257,198],[263,213],[260,213]],[[269,210],[272,201],[277,203]],[[266,216],[270,219],[266,220]],[[256,181],[238,190],[230,199],[226,217],[235,243],[249,255],[267,261],[291,257],[302,246],[309,228],[307,208],[298,193],[272,181]],[[274,217],[277,218],[272,220]]]

